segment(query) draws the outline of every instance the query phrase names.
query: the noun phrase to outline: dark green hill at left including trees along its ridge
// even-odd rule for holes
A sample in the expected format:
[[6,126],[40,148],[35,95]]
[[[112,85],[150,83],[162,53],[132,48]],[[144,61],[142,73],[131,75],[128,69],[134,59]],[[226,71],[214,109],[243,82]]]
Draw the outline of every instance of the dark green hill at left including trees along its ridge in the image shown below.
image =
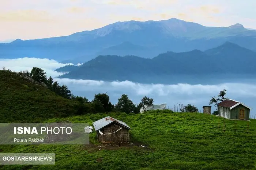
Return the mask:
[[[114,106],[107,94],[97,94],[93,102],[74,96],[68,87],[46,79],[46,87],[24,78],[25,72],[0,71],[0,122],[40,122],[53,117],[110,112]],[[34,78],[37,79],[36,74]]]

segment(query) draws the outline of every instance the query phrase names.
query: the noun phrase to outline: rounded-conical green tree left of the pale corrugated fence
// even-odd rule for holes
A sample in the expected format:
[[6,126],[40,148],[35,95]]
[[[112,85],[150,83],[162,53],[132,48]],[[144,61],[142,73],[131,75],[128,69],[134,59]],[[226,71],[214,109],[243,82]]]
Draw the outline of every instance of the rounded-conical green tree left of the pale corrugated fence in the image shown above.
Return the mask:
[[121,98],[118,99],[116,108],[118,111],[129,114],[135,111],[136,106],[135,104],[133,104],[132,100],[130,100],[126,94],[122,94]]

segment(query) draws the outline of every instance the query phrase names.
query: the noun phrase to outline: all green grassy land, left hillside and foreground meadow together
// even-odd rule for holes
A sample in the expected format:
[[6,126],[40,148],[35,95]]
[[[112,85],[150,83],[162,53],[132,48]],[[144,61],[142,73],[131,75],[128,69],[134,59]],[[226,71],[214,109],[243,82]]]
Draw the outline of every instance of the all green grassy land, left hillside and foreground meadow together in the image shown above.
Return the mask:
[[68,119],[92,125],[112,116],[132,128],[131,143],[121,147],[102,147],[95,131],[90,145],[0,145],[3,153],[55,153],[56,158],[55,165],[0,165],[0,169],[256,169],[256,120],[168,110],[74,116],[75,101],[8,70],[0,71],[0,89],[0,122]]

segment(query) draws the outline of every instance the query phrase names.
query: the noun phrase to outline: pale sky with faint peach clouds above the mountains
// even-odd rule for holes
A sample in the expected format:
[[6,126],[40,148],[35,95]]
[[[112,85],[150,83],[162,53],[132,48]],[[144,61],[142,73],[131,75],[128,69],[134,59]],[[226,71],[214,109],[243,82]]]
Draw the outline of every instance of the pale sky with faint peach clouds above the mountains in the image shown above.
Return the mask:
[[205,26],[256,28],[248,0],[0,0],[0,41],[38,39],[93,30],[117,21],[176,17]]

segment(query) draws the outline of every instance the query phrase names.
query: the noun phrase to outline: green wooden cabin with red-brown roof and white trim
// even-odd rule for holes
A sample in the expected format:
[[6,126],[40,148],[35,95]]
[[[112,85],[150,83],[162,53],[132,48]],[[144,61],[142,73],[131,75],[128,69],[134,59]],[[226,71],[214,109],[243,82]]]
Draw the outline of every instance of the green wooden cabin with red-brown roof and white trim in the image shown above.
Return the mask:
[[218,116],[232,120],[249,120],[251,109],[244,103],[226,99],[218,103]]

